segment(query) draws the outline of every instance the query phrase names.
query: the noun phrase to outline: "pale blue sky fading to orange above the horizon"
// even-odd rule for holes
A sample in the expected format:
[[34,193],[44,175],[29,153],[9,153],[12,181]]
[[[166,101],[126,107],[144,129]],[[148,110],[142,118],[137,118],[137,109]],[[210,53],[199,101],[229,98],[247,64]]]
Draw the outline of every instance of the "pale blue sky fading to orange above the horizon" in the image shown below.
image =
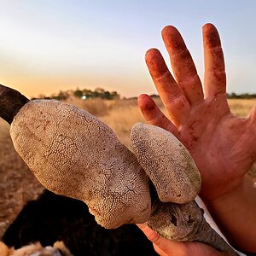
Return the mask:
[[144,62],[160,32],[176,26],[203,78],[201,26],[218,28],[227,90],[256,92],[256,1],[0,0],[0,84],[28,97],[59,90],[155,94]]

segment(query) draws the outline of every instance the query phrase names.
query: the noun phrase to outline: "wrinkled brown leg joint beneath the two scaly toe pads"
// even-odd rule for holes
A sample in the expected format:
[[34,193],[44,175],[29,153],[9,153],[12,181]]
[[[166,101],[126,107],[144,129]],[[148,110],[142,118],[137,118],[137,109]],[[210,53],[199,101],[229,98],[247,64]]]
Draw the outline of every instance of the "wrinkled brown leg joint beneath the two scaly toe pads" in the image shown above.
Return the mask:
[[148,226],[160,236],[174,241],[201,241],[215,249],[237,255],[224,239],[212,230],[195,201],[186,204],[155,200]]

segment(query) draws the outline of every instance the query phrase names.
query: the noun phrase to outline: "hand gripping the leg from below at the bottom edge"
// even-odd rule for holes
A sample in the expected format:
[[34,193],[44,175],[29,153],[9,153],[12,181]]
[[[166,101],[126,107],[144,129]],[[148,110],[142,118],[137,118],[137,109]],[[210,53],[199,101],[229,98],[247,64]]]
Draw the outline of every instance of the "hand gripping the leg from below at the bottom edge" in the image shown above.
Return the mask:
[[167,240],[156,234],[145,224],[137,224],[137,226],[148,237],[149,241],[153,242],[154,250],[160,256],[221,256],[228,255],[228,253],[218,252],[214,248],[201,242],[179,242]]

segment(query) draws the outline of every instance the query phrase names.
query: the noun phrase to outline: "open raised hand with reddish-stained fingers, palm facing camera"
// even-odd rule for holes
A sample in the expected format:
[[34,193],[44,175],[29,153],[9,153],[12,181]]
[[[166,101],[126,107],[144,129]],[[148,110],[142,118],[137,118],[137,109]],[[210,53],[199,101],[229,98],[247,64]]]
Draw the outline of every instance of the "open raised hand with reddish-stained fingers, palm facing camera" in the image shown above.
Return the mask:
[[217,200],[241,184],[256,160],[256,108],[247,118],[230,113],[224,55],[212,24],[203,26],[205,93],[177,29],[166,26],[162,37],[175,79],[157,49],[148,50],[146,62],[171,119],[161,113],[149,96],[139,97],[139,108],[149,124],[171,131],[189,149],[201,172],[201,197]]

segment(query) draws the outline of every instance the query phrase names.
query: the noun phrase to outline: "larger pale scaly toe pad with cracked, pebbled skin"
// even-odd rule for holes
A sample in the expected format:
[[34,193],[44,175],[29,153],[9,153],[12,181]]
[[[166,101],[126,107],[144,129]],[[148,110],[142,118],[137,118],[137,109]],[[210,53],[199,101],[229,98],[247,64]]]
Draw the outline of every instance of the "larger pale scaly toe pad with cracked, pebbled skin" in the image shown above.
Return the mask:
[[98,224],[116,228],[148,220],[148,177],[135,155],[90,113],[53,100],[28,102],[10,135],[38,181],[84,201]]

